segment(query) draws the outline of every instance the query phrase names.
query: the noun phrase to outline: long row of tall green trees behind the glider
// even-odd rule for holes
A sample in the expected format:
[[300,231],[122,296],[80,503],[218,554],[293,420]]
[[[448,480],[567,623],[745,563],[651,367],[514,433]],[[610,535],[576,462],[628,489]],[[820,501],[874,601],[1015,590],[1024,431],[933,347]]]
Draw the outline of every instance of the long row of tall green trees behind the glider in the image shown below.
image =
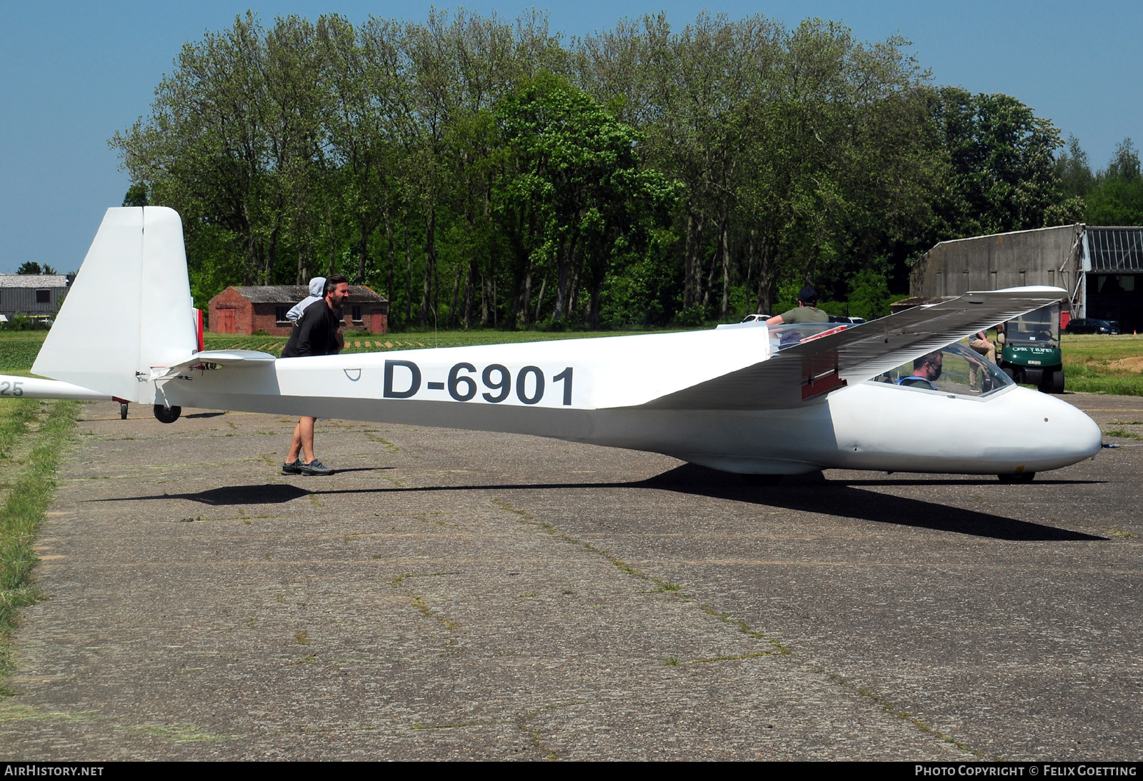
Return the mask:
[[806,281],[874,315],[936,241],[1081,219],[1106,188],[1070,184],[1086,159],[1049,121],[934,87],[906,43],[760,16],[565,41],[542,14],[247,15],[110,143],[126,203],[182,214],[200,306],[336,271],[398,327],[698,323]]

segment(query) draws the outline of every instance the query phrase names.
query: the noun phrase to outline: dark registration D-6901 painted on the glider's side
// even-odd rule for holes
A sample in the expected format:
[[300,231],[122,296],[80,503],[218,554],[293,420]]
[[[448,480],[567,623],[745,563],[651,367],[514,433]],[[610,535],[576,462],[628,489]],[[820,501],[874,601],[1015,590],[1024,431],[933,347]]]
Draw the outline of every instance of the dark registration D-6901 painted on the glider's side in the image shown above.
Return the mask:
[[[440,375],[439,377],[434,377]],[[385,398],[421,398],[424,401],[458,402],[480,401],[499,404],[505,401],[521,404],[570,406],[575,370],[562,367],[545,372],[539,367],[527,365],[509,369],[501,363],[478,367],[467,361],[451,367],[422,368],[413,361],[385,361]]]

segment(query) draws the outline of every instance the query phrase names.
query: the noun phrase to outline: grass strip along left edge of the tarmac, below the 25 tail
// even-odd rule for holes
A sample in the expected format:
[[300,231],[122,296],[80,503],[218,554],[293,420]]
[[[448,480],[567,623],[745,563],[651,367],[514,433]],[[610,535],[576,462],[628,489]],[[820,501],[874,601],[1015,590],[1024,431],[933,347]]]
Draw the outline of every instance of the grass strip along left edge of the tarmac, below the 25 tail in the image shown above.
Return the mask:
[[[24,420],[21,432],[34,436],[32,450],[24,460],[19,476],[11,483],[8,497],[0,506],[0,677],[13,671],[11,631],[19,619],[19,609],[40,599],[32,585],[32,572],[39,556],[32,549],[45,513],[56,491],[56,467],[75,428],[80,402],[40,402],[13,400],[16,406],[6,418]],[[31,414],[21,406],[31,406]],[[39,419],[38,429],[27,430],[27,421]],[[0,695],[10,695],[0,685]]]

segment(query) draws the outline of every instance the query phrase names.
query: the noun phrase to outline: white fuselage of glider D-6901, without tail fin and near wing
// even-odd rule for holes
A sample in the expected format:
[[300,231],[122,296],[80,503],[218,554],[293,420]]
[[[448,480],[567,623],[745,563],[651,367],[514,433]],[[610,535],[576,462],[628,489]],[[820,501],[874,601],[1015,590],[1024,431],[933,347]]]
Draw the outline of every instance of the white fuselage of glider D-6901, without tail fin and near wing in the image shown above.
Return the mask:
[[[767,341],[758,327],[285,359],[185,371],[162,384],[160,400],[533,434],[748,474],[1042,472],[1101,446],[1102,433],[1081,411],[1014,385],[972,397],[869,381],[793,408],[645,406],[706,375],[758,361]],[[679,377],[684,367],[689,372]]]

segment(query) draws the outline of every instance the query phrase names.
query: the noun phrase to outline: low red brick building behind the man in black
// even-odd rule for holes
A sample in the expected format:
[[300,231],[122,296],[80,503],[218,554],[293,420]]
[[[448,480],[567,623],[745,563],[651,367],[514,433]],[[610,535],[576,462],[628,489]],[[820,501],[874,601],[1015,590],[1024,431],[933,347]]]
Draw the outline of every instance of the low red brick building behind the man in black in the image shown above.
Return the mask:
[[[210,332],[289,336],[293,323],[286,313],[309,295],[302,284],[226,288],[210,299]],[[389,301],[365,285],[350,285],[350,300],[342,311],[342,328],[371,333],[389,329]]]

